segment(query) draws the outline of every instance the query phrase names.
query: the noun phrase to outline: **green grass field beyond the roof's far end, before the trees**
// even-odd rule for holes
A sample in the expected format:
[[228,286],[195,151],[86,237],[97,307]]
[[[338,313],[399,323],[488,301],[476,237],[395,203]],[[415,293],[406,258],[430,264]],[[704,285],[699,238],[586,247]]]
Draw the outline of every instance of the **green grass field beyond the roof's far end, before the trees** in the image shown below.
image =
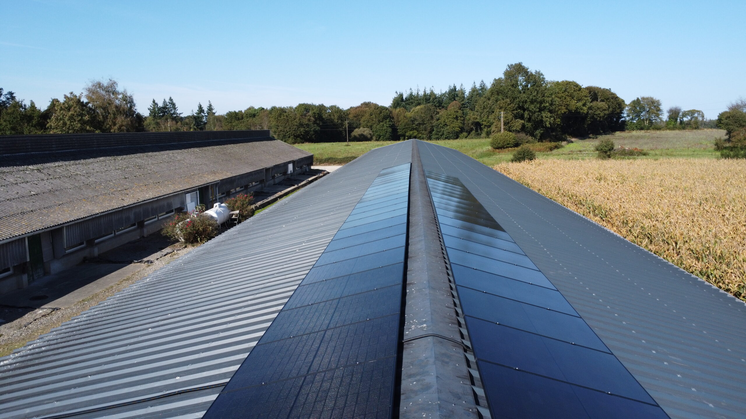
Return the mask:
[[[597,136],[589,139],[575,139],[573,142],[548,153],[536,153],[539,159],[591,159],[596,157],[593,150],[602,138],[609,138],[618,147],[636,147],[650,152],[643,159],[666,157],[715,158],[719,154],[712,142],[725,136],[724,130],[695,131],[626,131]],[[492,150],[489,139],[443,139],[431,141],[434,144],[454,148],[463,154],[474,157],[487,166],[510,160],[512,150]],[[366,154],[373,148],[383,147],[394,142],[322,142],[296,145],[314,154],[315,165],[342,165]]]

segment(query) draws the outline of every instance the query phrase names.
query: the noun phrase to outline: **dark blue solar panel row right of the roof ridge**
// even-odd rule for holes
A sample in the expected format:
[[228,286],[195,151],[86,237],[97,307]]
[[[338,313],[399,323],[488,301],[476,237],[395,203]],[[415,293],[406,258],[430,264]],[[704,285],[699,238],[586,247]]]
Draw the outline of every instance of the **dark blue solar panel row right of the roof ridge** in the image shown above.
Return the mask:
[[463,183],[426,175],[492,418],[668,418]]

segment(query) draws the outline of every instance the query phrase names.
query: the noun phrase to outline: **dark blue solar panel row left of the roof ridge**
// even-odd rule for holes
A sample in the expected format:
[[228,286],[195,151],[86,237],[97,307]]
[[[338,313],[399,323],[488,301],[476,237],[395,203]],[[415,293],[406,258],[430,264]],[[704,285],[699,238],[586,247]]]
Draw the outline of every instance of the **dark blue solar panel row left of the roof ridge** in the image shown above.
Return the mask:
[[204,418],[392,416],[409,181],[380,172]]

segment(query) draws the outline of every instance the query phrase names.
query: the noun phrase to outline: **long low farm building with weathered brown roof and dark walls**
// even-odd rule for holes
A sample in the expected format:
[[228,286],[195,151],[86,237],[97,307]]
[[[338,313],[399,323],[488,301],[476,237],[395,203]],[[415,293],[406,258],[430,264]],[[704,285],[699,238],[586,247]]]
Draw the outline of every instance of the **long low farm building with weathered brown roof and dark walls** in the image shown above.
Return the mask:
[[0,293],[306,171],[269,130],[0,137]]

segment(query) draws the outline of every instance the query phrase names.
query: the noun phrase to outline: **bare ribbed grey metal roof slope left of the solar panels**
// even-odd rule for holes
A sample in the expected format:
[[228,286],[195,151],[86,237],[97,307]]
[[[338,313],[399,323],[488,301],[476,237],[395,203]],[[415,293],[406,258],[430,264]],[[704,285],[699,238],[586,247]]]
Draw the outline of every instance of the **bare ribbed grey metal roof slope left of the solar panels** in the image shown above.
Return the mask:
[[[227,381],[380,169],[410,157],[377,148],[2,359],[0,417]],[[201,418],[221,388],[75,418]]]

